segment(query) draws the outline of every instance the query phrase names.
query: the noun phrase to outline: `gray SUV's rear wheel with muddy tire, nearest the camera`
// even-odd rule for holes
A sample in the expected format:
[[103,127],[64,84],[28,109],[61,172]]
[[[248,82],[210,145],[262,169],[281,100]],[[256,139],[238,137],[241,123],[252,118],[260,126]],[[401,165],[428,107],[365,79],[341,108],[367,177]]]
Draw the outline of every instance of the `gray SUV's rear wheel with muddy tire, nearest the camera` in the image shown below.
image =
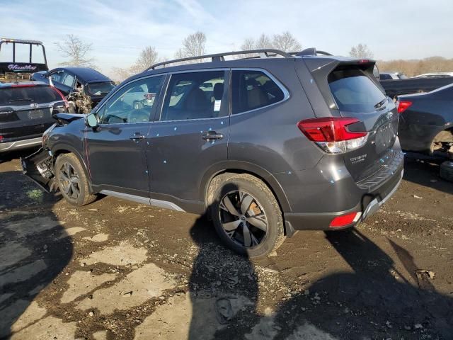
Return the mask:
[[210,216],[222,242],[239,254],[265,257],[285,241],[280,206],[268,186],[249,174],[222,174],[208,191]]

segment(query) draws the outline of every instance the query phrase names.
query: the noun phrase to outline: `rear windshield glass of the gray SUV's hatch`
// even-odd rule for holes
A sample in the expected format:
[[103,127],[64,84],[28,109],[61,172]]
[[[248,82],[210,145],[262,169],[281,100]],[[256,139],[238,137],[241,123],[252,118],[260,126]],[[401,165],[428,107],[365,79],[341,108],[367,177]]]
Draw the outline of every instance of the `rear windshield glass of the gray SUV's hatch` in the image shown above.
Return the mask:
[[361,69],[333,71],[328,84],[340,111],[374,112],[386,98]]

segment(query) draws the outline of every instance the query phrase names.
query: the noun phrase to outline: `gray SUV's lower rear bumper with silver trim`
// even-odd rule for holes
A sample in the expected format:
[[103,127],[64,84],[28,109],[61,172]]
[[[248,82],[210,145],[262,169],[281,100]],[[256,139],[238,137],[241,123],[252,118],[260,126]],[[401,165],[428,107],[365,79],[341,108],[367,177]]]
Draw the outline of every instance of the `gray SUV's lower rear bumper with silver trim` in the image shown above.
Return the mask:
[[[395,193],[403,179],[403,169],[398,169],[396,173],[387,181],[382,183],[373,191],[365,193],[354,208],[338,212],[304,212],[294,213],[285,212],[285,229],[288,236],[296,230],[334,230],[354,227],[365,220],[370,215],[377,212],[379,208]],[[344,227],[331,228],[331,221],[340,215],[346,215],[351,212],[360,212],[360,219]]]

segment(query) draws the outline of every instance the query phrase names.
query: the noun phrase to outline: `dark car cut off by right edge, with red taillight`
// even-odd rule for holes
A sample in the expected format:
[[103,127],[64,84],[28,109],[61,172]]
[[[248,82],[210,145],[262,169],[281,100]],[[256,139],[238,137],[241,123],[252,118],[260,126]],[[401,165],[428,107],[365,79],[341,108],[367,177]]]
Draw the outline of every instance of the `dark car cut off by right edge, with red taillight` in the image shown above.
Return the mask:
[[[453,84],[427,94],[398,96],[401,147],[445,154],[453,146]],[[453,149],[452,149],[453,152]]]

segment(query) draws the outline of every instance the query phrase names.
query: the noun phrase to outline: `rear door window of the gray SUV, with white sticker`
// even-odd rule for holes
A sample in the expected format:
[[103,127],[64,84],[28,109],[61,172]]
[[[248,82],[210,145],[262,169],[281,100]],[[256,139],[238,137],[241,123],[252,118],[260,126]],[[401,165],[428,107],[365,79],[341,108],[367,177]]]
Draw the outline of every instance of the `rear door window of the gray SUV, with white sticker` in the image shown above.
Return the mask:
[[172,74],[160,120],[217,118],[227,115],[224,71]]

